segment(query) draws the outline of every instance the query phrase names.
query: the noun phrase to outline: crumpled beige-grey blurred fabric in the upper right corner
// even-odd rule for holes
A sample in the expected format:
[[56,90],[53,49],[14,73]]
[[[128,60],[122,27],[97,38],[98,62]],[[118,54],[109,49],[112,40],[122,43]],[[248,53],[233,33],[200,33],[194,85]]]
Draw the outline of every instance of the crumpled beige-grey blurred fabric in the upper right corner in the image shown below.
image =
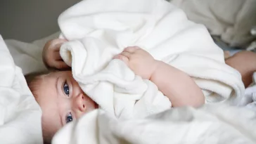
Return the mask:
[[230,46],[246,48],[255,40],[250,30],[256,25],[255,0],[172,0],[188,19],[204,24]]

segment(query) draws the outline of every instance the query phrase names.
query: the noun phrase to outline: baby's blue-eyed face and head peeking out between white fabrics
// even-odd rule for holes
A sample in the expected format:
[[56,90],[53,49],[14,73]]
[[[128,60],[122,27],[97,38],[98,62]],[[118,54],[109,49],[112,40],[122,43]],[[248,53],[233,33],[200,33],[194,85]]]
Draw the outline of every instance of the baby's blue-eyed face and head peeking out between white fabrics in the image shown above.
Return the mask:
[[41,122],[46,142],[62,126],[98,107],[80,89],[70,71],[30,74],[26,79],[43,112]]

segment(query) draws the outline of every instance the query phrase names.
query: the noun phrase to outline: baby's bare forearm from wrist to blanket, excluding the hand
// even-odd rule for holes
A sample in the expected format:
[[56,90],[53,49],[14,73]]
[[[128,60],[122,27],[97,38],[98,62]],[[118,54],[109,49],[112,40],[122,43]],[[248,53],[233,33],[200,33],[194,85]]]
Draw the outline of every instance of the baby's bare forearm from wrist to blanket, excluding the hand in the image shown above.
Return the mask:
[[173,107],[198,107],[205,103],[203,92],[191,77],[162,61],[157,63],[150,80],[171,100]]

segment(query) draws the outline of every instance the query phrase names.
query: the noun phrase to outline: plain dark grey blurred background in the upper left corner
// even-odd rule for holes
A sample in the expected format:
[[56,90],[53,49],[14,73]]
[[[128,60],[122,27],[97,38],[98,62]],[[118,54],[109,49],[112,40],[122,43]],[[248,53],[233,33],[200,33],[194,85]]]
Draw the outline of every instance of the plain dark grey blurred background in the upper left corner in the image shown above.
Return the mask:
[[79,0],[1,0],[0,34],[31,42],[58,32],[57,18]]

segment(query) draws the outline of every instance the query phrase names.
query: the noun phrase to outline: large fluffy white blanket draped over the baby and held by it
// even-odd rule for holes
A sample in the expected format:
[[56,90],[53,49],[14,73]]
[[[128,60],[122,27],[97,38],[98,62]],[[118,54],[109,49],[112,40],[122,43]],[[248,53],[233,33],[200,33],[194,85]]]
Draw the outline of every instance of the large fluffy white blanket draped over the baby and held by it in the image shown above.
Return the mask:
[[[236,103],[244,93],[241,74],[224,63],[222,49],[203,25],[163,0],[87,0],[58,18],[60,48],[79,86],[115,117],[145,117],[166,110],[169,100],[151,81],[134,75],[114,55],[140,46],[157,60],[194,78],[207,102]],[[112,61],[111,61],[112,60]]]

